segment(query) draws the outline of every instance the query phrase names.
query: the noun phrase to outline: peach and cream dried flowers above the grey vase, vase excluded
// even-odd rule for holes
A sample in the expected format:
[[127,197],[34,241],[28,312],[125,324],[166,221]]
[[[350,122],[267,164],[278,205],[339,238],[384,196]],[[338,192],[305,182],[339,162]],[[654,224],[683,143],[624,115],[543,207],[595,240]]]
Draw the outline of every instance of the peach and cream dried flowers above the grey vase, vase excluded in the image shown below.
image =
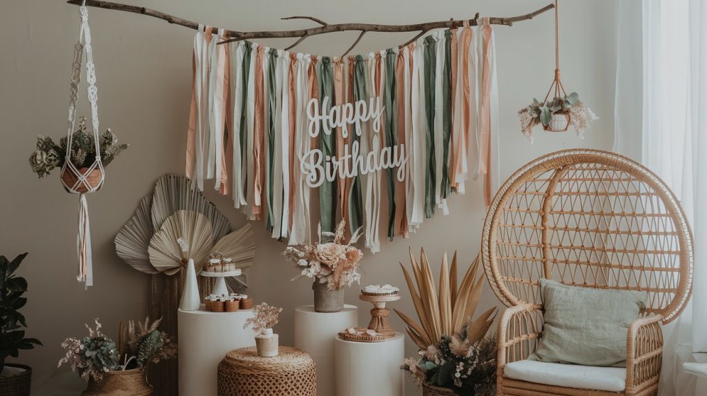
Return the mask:
[[[284,255],[297,264],[300,270],[298,277],[308,277],[316,282],[327,284],[327,289],[336,290],[351,286],[361,281],[358,272],[358,262],[363,258],[363,252],[353,246],[361,237],[361,228],[344,244],[344,226],[342,220],[337,225],[336,232],[321,232],[316,245],[307,244],[301,247],[288,246]],[[322,236],[332,238],[330,242],[322,242]]]

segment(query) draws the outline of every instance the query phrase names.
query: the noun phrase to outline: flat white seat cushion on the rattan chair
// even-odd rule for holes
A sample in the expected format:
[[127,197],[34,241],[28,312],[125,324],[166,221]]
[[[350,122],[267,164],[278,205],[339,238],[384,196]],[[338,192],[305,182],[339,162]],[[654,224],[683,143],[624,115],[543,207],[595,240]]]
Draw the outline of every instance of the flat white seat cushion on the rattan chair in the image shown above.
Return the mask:
[[545,363],[521,360],[506,364],[503,376],[531,383],[566,388],[621,392],[626,388],[626,368],[580,366],[578,364]]

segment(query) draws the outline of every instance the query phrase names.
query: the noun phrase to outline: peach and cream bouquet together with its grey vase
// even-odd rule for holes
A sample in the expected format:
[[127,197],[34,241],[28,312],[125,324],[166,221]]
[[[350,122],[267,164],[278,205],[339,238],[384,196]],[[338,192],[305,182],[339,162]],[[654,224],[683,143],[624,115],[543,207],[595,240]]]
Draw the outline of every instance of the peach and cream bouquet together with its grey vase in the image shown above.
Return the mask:
[[[363,252],[353,246],[361,237],[358,228],[348,243],[344,240],[346,222],[341,220],[335,232],[321,232],[317,244],[288,246],[283,253],[297,264],[298,277],[308,277],[314,282],[314,308],[317,312],[338,312],[344,308],[344,287],[361,281],[358,262]],[[322,241],[322,237],[328,241]]]

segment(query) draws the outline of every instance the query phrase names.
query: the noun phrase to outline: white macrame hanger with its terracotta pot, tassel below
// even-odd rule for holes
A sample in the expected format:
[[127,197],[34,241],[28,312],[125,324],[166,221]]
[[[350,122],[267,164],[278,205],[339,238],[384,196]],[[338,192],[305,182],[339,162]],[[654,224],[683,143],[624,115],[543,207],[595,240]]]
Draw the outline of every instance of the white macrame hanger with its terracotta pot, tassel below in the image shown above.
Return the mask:
[[[88,10],[86,0],[81,8],[81,30],[78,33],[78,42],[74,46],[74,63],[71,66],[71,85],[69,89],[69,132],[66,136],[66,159],[62,167],[62,184],[66,191],[79,194],[78,198],[78,236],[76,236],[76,251],[78,253],[78,282],[86,288],[93,286],[93,270],[91,268],[90,227],[88,223],[88,203],[86,193],[93,193],[103,186],[105,172],[100,159],[100,143],[98,140],[98,88],[95,87],[95,66],[91,51],[90,28],[88,27]],[[74,137],[76,124],[76,100],[78,99],[78,84],[81,82],[81,66],[83,56],[86,54],[86,82],[90,102],[91,128],[93,145],[95,147],[95,160],[88,168],[78,169],[71,162],[71,143]]]

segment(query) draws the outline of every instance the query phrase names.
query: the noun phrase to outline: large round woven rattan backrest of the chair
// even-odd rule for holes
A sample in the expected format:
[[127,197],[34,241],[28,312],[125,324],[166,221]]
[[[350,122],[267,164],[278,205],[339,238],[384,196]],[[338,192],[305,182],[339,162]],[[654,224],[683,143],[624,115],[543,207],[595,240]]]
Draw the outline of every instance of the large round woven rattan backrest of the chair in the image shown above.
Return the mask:
[[542,304],[542,277],[647,293],[668,323],[692,282],[692,237],[670,188],[612,152],[564,150],[506,181],[484,223],[481,258],[503,304]]

